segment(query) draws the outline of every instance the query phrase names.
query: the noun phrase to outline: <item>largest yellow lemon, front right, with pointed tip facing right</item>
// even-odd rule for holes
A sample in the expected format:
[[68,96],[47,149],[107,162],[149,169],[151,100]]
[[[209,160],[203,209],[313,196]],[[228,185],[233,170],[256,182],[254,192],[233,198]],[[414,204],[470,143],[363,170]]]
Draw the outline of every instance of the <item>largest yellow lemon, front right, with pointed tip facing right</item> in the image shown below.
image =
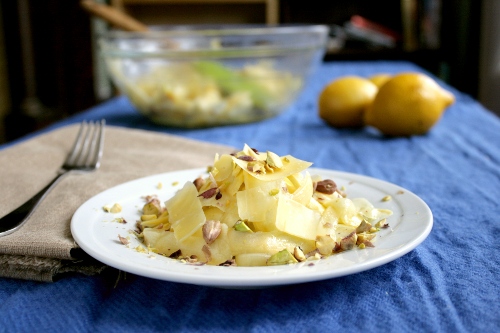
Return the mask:
[[393,76],[365,112],[365,124],[388,136],[427,133],[455,96],[431,77],[408,72]]

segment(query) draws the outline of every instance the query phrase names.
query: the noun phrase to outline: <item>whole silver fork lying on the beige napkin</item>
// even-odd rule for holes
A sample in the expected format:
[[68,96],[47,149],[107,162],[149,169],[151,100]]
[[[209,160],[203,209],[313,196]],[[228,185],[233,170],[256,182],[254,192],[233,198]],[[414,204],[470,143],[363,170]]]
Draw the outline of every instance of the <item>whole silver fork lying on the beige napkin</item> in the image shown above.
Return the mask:
[[105,124],[104,119],[95,123],[82,122],[71,152],[61,166],[58,175],[31,199],[0,218],[0,237],[19,229],[64,175],[72,171],[88,172],[99,168],[104,144]]

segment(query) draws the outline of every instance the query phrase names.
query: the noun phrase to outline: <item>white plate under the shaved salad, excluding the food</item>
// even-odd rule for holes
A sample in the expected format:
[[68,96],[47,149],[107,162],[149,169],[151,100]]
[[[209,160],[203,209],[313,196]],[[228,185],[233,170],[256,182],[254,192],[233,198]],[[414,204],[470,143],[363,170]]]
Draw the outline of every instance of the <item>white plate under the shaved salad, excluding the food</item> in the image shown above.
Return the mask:
[[[165,201],[186,181],[193,181],[205,169],[169,172],[133,180],[110,188],[85,202],[74,214],[71,232],[78,245],[95,259],[125,272],[159,280],[217,286],[255,288],[295,284],[354,274],[386,264],[417,247],[432,229],[429,207],[418,196],[397,185],[378,179],[325,169],[310,168],[311,174],[333,179],[344,186],[350,198],[367,198],[378,208],[391,209],[389,228],[378,233],[374,248],[354,249],[327,259],[294,265],[269,267],[195,266],[154,253],[141,253],[131,233],[139,219],[143,196],[156,194]],[[162,188],[158,189],[158,184]],[[391,195],[392,200],[381,201]],[[119,203],[119,214],[105,213],[103,206]],[[118,223],[123,217],[126,224]],[[120,243],[118,235],[130,244]]]

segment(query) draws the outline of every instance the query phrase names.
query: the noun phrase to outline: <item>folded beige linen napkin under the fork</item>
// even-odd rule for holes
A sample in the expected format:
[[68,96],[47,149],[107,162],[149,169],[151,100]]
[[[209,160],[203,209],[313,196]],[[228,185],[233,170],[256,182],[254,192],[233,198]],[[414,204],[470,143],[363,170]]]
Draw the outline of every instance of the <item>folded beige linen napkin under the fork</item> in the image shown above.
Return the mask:
[[[63,127],[0,151],[0,217],[56,176],[78,127]],[[85,256],[71,236],[71,217],[81,204],[123,182],[208,166],[215,153],[234,150],[173,135],[107,126],[99,170],[65,176],[25,225],[0,237],[0,276],[53,281],[67,272],[100,272],[106,266]]]

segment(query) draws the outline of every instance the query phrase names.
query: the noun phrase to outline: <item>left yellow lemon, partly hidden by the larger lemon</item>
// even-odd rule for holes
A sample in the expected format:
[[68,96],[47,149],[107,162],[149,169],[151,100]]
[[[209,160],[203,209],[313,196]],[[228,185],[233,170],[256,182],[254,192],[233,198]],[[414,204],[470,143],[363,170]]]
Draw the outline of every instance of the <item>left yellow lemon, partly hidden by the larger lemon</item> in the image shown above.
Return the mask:
[[373,82],[359,76],[334,80],[319,96],[319,116],[334,127],[361,127],[365,109],[377,91]]

